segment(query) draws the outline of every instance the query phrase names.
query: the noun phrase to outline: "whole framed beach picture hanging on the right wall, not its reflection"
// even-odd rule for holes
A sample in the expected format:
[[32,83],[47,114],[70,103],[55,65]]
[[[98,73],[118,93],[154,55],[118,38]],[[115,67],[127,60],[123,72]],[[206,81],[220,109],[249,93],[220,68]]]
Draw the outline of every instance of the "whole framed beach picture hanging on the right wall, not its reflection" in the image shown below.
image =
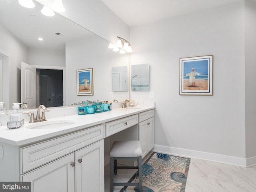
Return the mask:
[[180,95],[212,95],[212,58],[180,58]]

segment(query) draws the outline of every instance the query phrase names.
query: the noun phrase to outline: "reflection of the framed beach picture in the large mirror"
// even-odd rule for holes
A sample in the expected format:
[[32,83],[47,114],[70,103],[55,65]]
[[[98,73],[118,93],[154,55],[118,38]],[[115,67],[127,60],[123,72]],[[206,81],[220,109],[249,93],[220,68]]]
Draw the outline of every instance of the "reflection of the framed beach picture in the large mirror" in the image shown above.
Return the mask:
[[93,70],[76,70],[77,95],[93,95]]

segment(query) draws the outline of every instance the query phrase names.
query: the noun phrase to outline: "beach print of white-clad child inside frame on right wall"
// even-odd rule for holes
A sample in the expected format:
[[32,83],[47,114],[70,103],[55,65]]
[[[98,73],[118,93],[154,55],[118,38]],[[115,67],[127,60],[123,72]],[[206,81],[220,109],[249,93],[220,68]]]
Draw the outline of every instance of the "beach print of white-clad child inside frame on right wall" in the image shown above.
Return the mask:
[[208,61],[184,62],[183,89],[208,90]]

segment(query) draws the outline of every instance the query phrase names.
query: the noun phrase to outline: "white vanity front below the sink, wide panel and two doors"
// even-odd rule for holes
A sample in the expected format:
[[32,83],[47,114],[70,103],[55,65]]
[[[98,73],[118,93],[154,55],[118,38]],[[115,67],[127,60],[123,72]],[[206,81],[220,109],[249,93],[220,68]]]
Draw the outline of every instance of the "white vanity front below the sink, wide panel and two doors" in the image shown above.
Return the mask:
[[32,192],[104,192],[103,138],[99,125],[20,148],[20,181]]

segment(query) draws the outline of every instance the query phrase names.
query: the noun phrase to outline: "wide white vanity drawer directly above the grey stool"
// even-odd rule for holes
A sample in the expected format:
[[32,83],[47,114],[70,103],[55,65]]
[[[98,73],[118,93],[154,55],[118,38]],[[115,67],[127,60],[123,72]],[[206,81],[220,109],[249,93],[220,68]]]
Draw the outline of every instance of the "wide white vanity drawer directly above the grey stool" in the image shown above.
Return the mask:
[[138,124],[138,115],[106,123],[106,137]]

